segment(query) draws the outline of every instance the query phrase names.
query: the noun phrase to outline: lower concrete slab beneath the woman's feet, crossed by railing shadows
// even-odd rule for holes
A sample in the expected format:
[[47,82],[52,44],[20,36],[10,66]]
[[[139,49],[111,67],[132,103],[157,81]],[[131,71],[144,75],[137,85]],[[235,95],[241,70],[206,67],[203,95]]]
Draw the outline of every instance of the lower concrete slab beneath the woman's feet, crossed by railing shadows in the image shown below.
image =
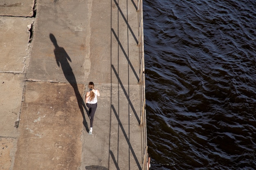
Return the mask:
[[[137,120],[139,86],[97,85],[101,96],[94,116],[92,135],[83,134],[82,167],[109,170],[141,169],[141,129]],[[127,99],[128,89],[132,93]],[[89,122],[87,116],[86,121]]]

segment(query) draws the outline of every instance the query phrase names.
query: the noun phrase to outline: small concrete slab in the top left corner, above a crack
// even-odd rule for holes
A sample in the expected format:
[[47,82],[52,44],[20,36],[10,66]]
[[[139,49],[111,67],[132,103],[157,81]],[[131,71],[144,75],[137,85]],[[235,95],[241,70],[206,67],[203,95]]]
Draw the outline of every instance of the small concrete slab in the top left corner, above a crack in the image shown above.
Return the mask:
[[35,0],[1,0],[0,15],[2,16],[33,16]]

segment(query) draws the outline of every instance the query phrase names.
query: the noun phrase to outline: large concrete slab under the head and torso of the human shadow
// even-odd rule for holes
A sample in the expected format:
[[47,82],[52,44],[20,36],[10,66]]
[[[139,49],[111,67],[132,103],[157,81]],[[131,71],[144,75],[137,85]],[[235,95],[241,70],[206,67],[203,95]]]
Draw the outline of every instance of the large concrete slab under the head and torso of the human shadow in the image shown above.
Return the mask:
[[[76,82],[85,82],[90,71],[87,3],[87,0],[37,2],[28,79],[70,82],[74,80],[66,76],[74,74]],[[66,68],[72,68],[69,69],[72,73],[63,74]]]

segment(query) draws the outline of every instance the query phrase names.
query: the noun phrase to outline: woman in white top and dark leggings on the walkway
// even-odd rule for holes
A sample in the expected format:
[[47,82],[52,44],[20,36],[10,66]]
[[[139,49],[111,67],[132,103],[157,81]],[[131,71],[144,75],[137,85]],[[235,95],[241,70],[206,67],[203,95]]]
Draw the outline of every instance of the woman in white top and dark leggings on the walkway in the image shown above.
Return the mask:
[[99,97],[100,94],[98,89],[94,89],[93,82],[89,82],[88,87],[89,87],[89,91],[86,92],[85,103],[86,103],[86,106],[89,108],[90,126],[91,126],[89,134],[92,135],[93,118],[94,118],[95,111],[97,109],[97,102],[98,102],[97,96]]

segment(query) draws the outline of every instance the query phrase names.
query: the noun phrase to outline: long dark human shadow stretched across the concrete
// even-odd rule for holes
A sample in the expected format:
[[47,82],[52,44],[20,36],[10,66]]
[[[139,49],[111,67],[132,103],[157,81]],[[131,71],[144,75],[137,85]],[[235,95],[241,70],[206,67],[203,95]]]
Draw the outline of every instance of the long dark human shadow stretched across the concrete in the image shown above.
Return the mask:
[[74,89],[74,93],[76,95],[77,103],[78,103],[79,109],[81,111],[81,114],[83,116],[83,125],[85,126],[86,131],[89,132],[88,124],[87,124],[87,121],[85,120],[85,114],[84,114],[84,111],[83,111],[83,108],[85,108],[85,110],[87,110],[87,109],[85,107],[85,103],[83,101],[83,98],[81,97],[80,92],[78,90],[78,86],[77,86],[77,83],[76,83],[76,77],[75,77],[75,75],[72,71],[72,68],[71,68],[70,64],[69,64],[69,61],[72,62],[71,58],[67,54],[67,52],[65,51],[65,49],[63,47],[58,46],[57,40],[56,40],[55,36],[52,33],[50,33],[49,37],[50,37],[50,39],[51,39],[51,41],[52,41],[52,43],[54,44],[54,47],[55,47],[54,55],[55,55],[55,58],[56,58],[57,65],[58,65],[58,67],[61,66],[65,78],[67,79],[67,81],[70,83],[70,85]]

